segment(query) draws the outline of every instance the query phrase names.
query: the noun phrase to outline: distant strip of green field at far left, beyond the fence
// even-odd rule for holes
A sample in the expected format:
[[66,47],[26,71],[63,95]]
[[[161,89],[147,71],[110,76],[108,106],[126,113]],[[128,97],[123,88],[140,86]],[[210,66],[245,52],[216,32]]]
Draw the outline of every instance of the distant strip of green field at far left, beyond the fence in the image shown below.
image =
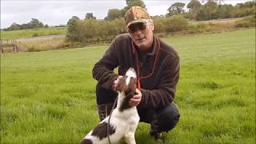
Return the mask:
[[31,30],[1,31],[1,39],[29,38],[34,36],[46,36],[53,34],[66,34],[66,27],[50,27]]

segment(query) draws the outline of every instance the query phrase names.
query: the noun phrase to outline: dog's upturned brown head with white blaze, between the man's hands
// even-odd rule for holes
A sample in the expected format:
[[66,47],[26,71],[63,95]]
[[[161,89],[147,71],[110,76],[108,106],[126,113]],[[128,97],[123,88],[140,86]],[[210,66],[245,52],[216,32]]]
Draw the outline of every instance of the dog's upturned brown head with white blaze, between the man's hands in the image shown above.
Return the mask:
[[126,71],[126,75],[121,79],[119,85],[117,86],[116,90],[119,92],[124,91],[126,96],[133,97],[136,90],[137,83],[137,75],[134,68],[129,68]]

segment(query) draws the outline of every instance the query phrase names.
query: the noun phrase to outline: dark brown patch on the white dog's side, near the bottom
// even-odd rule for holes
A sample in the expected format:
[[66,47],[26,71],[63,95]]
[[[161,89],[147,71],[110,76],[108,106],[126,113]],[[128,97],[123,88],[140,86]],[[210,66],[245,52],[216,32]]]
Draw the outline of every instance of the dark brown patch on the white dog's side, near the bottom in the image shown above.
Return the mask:
[[[109,134],[111,135],[114,133],[115,133],[114,127],[109,125]],[[102,123],[98,124],[98,126],[96,126],[94,128],[91,135],[98,137],[100,140],[102,138],[106,138],[107,137],[107,123],[102,122]]]

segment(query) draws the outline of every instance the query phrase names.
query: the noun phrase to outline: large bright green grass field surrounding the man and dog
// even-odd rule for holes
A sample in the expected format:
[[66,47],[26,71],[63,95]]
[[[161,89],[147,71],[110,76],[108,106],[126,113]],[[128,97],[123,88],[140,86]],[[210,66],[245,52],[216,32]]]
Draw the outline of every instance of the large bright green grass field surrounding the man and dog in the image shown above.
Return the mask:
[[[255,29],[166,38],[181,118],[166,143],[255,143]],[[106,46],[1,55],[1,143],[78,143],[98,123],[91,76]],[[154,143],[140,123],[138,144]]]

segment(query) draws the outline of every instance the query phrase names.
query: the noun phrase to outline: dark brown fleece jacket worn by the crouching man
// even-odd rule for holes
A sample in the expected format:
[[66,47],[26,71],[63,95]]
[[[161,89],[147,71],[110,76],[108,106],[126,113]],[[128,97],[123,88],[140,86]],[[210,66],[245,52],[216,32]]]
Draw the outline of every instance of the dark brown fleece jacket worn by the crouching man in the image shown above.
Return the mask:
[[[114,38],[102,59],[95,64],[93,77],[102,87],[112,89],[118,74],[124,75],[130,67],[134,67],[138,74],[138,67],[140,67],[142,102],[138,106],[146,109],[167,106],[174,100],[178,83],[178,53],[172,46],[166,45],[154,36],[154,49],[144,54],[143,58],[141,58],[142,55],[132,43],[129,34],[121,34]],[[118,67],[118,74],[114,74],[113,71],[116,67]],[[153,67],[154,73],[149,78],[142,78],[149,76]]]

